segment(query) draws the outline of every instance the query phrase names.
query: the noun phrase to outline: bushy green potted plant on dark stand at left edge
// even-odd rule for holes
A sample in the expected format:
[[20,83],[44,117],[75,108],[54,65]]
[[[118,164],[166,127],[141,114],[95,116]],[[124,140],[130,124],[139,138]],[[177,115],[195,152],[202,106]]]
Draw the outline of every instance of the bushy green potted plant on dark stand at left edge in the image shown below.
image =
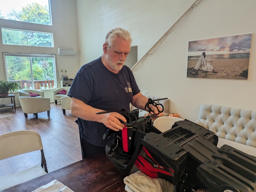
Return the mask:
[[10,93],[17,92],[18,89],[21,89],[19,81],[0,81],[0,95],[8,95]]

